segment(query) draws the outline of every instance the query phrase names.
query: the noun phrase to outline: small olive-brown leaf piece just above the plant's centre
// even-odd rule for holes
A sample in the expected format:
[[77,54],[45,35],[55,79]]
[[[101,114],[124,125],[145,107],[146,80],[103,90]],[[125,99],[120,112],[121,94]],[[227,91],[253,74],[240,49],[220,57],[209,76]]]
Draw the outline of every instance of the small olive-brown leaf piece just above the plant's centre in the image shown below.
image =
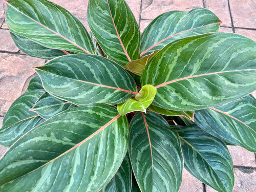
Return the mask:
[[146,55],[143,58],[130,61],[127,63],[124,68],[128,69],[129,71],[141,76],[143,69],[145,68],[147,62],[158,52],[159,50],[154,51],[154,53],[150,55]]

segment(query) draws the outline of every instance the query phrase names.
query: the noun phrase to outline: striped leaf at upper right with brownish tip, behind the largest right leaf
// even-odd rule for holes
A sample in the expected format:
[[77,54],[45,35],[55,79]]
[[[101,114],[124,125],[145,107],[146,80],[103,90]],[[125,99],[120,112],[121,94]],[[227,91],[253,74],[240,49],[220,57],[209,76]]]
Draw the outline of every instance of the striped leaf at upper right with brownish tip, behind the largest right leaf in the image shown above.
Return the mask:
[[141,55],[161,50],[169,42],[209,32],[218,32],[221,21],[207,9],[170,11],[156,17],[141,35]]

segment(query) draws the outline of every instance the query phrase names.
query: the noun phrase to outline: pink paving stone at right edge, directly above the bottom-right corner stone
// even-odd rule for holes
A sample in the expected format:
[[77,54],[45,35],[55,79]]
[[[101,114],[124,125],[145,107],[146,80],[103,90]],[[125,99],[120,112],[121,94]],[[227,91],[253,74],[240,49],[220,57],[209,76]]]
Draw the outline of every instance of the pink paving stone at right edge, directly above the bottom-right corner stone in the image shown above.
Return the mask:
[[234,165],[256,167],[254,153],[245,150],[241,146],[228,146]]

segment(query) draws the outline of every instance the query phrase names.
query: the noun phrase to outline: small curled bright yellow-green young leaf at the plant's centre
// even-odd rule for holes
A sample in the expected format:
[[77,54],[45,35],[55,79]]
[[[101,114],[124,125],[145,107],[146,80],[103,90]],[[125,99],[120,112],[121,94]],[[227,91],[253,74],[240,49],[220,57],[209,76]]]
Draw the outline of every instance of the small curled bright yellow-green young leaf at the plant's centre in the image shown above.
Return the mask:
[[154,100],[156,92],[157,89],[155,87],[146,84],[134,99],[127,99],[125,102],[117,105],[119,114],[125,115],[134,111],[142,111],[146,113],[146,109]]

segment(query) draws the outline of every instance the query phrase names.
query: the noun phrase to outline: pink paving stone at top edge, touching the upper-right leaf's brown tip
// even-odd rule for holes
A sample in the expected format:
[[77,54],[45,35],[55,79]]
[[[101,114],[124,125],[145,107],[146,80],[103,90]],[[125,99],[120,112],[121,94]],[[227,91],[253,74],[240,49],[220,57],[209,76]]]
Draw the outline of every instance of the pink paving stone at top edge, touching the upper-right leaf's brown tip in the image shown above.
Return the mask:
[[231,27],[231,18],[227,0],[207,0],[205,2],[206,9],[214,12],[217,17],[219,17],[219,19],[222,21],[222,26]]

